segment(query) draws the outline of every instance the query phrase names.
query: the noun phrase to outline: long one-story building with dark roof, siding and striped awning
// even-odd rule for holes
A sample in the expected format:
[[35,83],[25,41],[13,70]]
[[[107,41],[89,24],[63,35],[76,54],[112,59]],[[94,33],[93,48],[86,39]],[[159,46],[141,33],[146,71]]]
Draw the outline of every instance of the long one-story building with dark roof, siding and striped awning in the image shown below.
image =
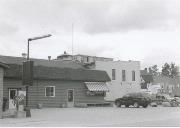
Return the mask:
[[[2,58],[0,56],[0,60]],[[18,91],[25,91],[25,87],[22,85],[22,63],[13,63],[9,59],[6,60],[9,68],[4,72],[3,96],[8,99],[8,108],[11,109],[15,107],[14,97]],[[109,91],[106,82],[110,81],[105,71],[83,69],[77,64],[76,68],[71,68],[75,62],[69,62],[69,67],[63,61],[43,60],[39,63],[39,60],[34,60],[34,81],[33,86],[29,87],[30,108],[36,108],[38,104],[43,107],[73,107],[105,103],[104,97]]]

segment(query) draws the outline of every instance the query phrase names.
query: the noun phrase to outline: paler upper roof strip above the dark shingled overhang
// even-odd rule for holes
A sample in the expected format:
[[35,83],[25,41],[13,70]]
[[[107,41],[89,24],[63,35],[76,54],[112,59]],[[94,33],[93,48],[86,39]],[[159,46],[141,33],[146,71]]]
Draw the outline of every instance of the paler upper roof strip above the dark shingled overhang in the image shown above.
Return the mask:
[[[31,59],[34,61],[34,66],[45,66],[45,67],[59,67],[59,68],[73,68],[73,69],[84,69],[84,66],[75,61],[55,61],[45,59]],[[12,56],[1,56],[0,62],[6,64],[18,64],[22,65],[22,62],[26,61],[23,57],[12,57]]]

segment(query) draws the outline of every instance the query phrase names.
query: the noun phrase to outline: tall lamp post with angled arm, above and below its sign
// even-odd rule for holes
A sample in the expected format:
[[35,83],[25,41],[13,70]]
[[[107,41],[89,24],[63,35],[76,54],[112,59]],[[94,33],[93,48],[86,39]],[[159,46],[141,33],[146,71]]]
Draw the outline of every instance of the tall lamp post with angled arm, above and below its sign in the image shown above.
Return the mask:
[[[52,36],[52,35],[48,34],[48,35],[43,35],[43,36],[33,37],[33,38],[28,39],[27,61],[30,60],[30,58],[29,58],[29,43],[30,43],[30,41],[39,40],[39,39],[47,38],[50,36]],[[28,93],[29,93],[29,85],[26,85],[26,117],[31,117],[30,109],[28,108]]]

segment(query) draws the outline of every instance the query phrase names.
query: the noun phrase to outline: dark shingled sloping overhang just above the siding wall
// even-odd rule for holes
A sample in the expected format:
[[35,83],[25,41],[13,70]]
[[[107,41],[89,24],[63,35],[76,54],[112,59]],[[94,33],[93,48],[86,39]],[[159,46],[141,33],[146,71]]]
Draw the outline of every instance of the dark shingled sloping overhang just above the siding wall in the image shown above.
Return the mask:
[[[22,65],[9,64],[5,78],[22,78]],[[78,80],[89,82],[110,81],[105,71],[34,66],[34,79]]]

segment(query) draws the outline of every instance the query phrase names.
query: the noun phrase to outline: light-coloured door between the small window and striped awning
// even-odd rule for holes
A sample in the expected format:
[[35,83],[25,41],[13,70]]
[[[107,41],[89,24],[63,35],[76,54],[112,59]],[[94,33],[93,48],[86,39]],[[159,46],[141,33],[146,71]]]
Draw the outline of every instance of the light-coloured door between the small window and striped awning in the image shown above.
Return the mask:
[[68,89],[67,91],[67,107],[74,107],[74,90]]

